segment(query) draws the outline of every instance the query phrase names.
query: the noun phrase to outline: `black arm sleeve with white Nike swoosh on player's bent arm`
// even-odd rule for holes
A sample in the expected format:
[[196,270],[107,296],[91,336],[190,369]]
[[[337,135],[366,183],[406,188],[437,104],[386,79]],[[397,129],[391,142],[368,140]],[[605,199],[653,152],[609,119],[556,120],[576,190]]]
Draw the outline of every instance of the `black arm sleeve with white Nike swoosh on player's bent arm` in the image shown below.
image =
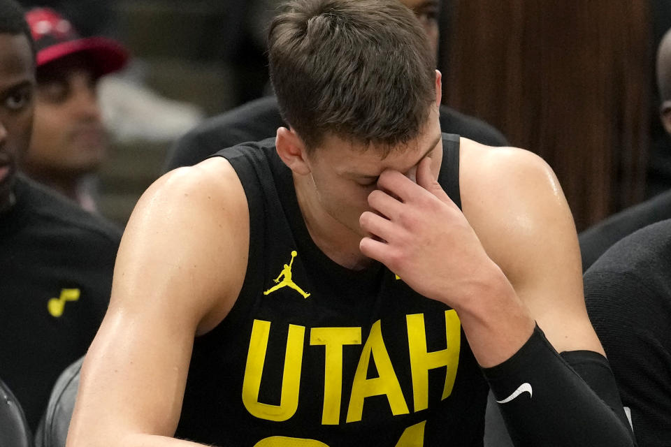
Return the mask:
[[635,446],[613,374],[598,353],[562,357],[536,326],[514,356],[483,372],[517,447]]

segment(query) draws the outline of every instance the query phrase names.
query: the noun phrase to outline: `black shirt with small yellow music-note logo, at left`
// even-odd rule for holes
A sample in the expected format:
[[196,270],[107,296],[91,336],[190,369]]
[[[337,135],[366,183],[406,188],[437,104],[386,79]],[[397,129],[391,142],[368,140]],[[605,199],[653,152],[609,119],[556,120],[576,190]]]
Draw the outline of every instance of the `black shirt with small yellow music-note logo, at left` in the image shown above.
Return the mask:
[[121,234],[23,177],[15,195],[0,214],[0,377],[35,430],[106,312]]

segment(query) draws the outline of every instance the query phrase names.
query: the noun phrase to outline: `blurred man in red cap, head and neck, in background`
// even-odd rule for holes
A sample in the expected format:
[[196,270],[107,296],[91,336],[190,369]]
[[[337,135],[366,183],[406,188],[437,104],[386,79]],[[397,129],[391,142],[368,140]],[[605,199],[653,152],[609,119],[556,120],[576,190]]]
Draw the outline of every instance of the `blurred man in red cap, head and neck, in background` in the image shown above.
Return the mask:
[[37,96],[30,147],[22,169],[29,177],[95,210],[95,182],[108,142],[96,85],[120,70],[126,51],[106,38],[80,38],[48,8],[26,14],[37,50]]

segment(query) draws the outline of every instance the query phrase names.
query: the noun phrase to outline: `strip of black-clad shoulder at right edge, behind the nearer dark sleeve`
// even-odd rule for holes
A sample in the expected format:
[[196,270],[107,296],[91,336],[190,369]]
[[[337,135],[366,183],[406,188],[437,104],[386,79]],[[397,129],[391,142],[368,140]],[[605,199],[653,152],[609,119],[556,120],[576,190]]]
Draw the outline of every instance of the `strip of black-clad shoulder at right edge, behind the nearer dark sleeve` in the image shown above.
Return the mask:
[[578,235],[585,272],[609,247],[651,223],[671,219],[671,190],[629,207]]

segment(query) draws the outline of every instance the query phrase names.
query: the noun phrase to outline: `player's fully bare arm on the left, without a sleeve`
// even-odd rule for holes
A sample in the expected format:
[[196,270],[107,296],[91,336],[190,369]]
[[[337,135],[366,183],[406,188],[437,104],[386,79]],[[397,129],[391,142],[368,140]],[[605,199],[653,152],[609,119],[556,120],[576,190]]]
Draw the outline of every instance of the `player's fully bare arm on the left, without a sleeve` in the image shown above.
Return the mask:
[[242,286],[247,215],[222,159],[173,171],[140,198],[82,367],[68,447],[194,445],[169,437],[194,336],[224,318]]

